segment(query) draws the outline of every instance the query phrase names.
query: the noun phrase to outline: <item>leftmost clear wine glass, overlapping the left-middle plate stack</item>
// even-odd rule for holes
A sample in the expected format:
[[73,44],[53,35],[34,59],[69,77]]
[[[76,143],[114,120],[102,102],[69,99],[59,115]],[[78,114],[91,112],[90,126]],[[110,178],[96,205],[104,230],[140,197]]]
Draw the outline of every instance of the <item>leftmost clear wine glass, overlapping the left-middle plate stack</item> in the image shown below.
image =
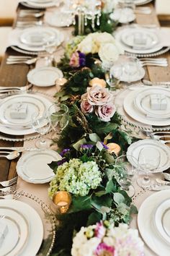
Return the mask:
[[50,130],[50,116],[48,115],[48,111],[45,111],[40,116],[37,113],[32,115],[32,128],[41,135],[40,139],[35,142],[35,146],[42,149],[48,148],[50,143],[44,137]]

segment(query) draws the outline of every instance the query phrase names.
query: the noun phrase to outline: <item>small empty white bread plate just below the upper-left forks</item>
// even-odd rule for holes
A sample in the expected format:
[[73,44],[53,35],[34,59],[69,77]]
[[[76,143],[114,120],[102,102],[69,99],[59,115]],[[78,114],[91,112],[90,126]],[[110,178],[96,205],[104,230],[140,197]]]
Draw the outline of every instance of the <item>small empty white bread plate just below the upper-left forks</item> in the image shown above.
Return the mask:
[[57,67],[38,67],[27,74],[27,80],[40,87],[55,85],[55,81],[62,77],[63,72]]

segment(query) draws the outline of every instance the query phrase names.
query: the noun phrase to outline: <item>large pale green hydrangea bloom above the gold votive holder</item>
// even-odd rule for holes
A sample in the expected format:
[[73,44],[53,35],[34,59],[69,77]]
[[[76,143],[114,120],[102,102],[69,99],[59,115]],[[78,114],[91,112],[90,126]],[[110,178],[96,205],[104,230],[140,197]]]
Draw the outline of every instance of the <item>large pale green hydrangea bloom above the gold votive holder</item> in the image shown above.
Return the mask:
[[56,191],[67,191],[73,195],[88,195],[90,189],[96,189],[102,182],[101,172],[97,163],[73,158],[58,166],[57,172],[50,182],[49,196],[52,198]]

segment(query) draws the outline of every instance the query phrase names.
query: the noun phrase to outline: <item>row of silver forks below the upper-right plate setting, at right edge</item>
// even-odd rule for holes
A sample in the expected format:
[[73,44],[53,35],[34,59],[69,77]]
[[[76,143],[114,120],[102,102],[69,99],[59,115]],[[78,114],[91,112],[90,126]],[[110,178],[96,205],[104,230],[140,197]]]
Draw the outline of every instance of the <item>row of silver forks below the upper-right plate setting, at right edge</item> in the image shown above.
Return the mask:
[[140,58],[140,63],[142,66],[158,66],[158,67],[168,67],[168,60],[166,58]]

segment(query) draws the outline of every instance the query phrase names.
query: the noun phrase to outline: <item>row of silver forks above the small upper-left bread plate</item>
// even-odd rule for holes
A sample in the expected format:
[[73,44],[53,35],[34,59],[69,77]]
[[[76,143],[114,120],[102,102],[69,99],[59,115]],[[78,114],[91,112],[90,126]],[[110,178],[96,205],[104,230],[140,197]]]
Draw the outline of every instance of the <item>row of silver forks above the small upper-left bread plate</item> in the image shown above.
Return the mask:
[[27,64],[31,65],[34,64],[37,61],[36,58],[32,58],[32,56],[9,56],[6,59],[6,64],[11,65],[11,64]]

